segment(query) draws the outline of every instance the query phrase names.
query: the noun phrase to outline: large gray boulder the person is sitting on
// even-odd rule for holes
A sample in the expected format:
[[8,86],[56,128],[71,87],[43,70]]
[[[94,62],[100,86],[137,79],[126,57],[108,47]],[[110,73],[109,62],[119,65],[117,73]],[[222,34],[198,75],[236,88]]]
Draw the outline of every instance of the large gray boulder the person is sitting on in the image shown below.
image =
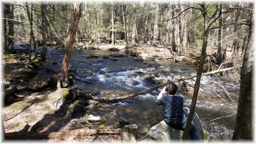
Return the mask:
[[[209,139],[209,133],[206,129],[206,124],[201,121],[198,115],[195,113],[193,117],[193,125],[197,128],[199,133],[200,141],[207,142]],[[170,142],[170,141],[181,141],[183,131],[172,128],[167,125],[164,121],[159,122],[148,130],[146,136],[139,142]]]

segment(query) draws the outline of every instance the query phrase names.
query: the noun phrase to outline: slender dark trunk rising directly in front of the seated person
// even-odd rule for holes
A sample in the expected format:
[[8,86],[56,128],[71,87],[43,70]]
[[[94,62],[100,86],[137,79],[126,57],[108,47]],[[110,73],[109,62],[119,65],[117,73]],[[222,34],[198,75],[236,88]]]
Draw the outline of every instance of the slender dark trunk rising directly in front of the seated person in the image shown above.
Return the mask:
[[201,7],[202,7],[202,10],[203,10],[202,14],[203,14],[203,17],[204,17],[203,47],[202,47],[202,53],[201,53],[199,68],[198,68],[197,79],[196,79],[196,83],[195,83],[195,87],[194,87],[193,98],[192,98],[192,102],[191,102],[191,106],[190,106],[190,112],[189,112],[189,115],[188,115],[188,118],[187,118],[187,123],[186,123],[186,127],[184,129],[184,132],[183,132],[182,140],[185,140],[185,139],[189,138],[188,137],[189,128],[190,128],[190,125],[191,125],[191,122],[193,120],[193,116],[194,116],[194,113],[195,113],[198,91],[199,91],[199,88],[200,88],[200,81],[201,81],[201,76],[202,76],[203,67],[204,67],[204,61],[205,61],[205,57],[206,57],[207,39],[208,39],[209,31],[207,30],[208,22],[207,22],[207,10],[206,10],[206,7],[205,7],[205,2],[202,3]]

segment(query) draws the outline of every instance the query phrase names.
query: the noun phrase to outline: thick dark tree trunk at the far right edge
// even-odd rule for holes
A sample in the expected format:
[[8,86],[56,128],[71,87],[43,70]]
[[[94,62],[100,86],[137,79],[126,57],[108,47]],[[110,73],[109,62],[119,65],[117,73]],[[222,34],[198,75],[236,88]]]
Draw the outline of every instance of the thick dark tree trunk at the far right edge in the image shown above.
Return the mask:
[[[252,8],[253,9],[253,8]],[[253,37],[254,37],[254,15],[251,13],[249,24],[248,45],[245,48],[243,65],[241,69],[240,92],[237,107],[237,116],[233,140],[252,140],[252,95],[253,83],[252,72],[254,67]]]

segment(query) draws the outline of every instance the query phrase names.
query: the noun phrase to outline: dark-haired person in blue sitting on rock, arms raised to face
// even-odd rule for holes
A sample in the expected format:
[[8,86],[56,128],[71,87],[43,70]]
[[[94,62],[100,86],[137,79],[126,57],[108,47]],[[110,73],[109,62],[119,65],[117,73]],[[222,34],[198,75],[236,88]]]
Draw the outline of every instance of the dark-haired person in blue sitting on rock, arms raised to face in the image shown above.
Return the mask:
[[[173,82],[167,84],[159,93],[156,104],[163,105],[164,107],[164,121],[169,126],[184,131],[188,109],[183,110],[183,98],[176,95],[177,85]],[[199,140],[199,135],[196,127],[191,124],[189,129],[191,139]]]

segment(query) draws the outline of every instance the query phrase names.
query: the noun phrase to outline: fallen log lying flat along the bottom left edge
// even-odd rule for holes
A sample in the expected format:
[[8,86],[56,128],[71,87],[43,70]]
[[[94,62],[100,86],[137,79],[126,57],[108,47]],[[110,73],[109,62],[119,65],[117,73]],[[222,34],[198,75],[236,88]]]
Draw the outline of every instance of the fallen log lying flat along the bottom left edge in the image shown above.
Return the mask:
[[5,139],[49,139],[63,136],[76,136],[86,134],[120,134],[121,129],[75,129],[62,132],[9,132],[5,133]]

